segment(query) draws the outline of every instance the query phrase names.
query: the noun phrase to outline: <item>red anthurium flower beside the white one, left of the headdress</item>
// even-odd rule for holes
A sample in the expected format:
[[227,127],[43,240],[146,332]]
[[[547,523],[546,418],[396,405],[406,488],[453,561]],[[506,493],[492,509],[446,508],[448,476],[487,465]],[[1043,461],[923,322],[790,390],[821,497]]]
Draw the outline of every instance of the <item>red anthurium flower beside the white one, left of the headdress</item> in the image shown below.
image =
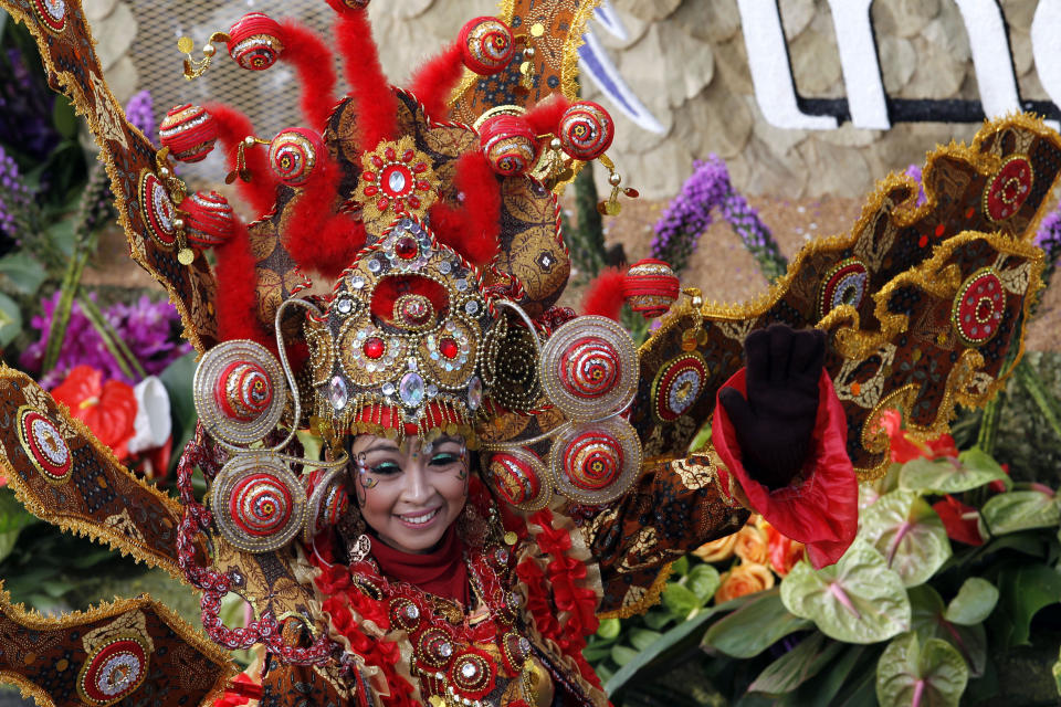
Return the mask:
[[129,456],[127,444],[136,431],[136,395],[132,386],[118,380],[103,382],[101,371],[78,366],[52,390],[52,397],[88,425],[97,440],[114,450],[118,460]]

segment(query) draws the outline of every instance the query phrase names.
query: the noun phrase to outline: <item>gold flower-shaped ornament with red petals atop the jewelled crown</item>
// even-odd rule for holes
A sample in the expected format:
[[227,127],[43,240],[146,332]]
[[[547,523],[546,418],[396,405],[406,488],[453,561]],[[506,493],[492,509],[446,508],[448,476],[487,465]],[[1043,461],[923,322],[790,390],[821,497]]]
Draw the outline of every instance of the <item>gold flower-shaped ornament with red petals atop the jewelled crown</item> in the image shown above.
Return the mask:
[[431,158],[416,149],[409,135],[366,152],[361,168],[355,199],[366,222],[390,222],[398,215],[422,219],[438,198],[439,179]]

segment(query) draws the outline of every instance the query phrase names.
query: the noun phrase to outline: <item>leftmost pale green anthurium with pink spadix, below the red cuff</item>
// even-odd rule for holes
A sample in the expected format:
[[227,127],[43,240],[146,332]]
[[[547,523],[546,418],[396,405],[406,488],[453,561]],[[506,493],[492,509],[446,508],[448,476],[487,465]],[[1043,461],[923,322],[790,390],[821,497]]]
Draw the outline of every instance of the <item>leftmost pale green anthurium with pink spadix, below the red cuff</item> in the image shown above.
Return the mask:
[[827,636],[847,643],[876,643],[910,630],[902,580],[861,538],[836,564],[815,570],[806,560],[797,563],[781,582],[781,601]]

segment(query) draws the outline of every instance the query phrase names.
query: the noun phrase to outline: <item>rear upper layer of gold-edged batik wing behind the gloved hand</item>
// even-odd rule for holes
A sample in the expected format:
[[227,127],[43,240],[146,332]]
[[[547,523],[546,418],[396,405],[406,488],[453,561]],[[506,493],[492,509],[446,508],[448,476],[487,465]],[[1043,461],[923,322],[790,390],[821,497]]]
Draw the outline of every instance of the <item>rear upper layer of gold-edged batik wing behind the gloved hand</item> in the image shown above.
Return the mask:
[[[834,339],[827,361],[837,381],[853,366],[880,361],[879,368],[889,369],[893,351],[887,347],[876,351],[879,344],[883,346],[882,337],[910,340],[924,336],[926,331],[921,328],[929,323],[913,319],[908,330],[889,329],[878,318],[872,293],[882,292],[905,274],[920,272],[962,232],[999,233],[1007,241],[1029,241],[1059,170],[1061,139],[1040,120],[1017,115],[988,123],[970,146],[952,144],[928,156],[923,172],[926,203],[916,205],[913,180],[890,176],[871,196],[850,235],[805,246],[788,274],[760,299],[726,306],[684,298],[640,351],[641,384],[631,422],[647,458],[686,454],[693,435],[712,413],[718,388],[743,366],[745,337],[771,323],[838,331],[843,347],[838,348],[840,339]],[[955,242],[952,247],[966,246],[979,247],[970,241]],[[1012,341],[1019,342],[1020,331],[1012,334],[1018,335]],[[897,338],[890,344],[905,346]],[[932,374],[950,380],[956,363],[948,357],[937,359],[934,365],[942,368]],[[908,365],[921,371],[923,362],[915,359]],[[868,395],[895,394],[895,380],[873,378],[858,386],[859,400],[843,401],[849,415],[854,415],[849,419],[859,419],[860,413],[853,409],[862,407]],[[897,394],[892,400],[901,402],[904,398]],[[862,429],[861,423],[858,429]],[[942,431],[943,426],[933,430]],[[876,463],[876,453],[861,442],[849,451],[862,469]]]

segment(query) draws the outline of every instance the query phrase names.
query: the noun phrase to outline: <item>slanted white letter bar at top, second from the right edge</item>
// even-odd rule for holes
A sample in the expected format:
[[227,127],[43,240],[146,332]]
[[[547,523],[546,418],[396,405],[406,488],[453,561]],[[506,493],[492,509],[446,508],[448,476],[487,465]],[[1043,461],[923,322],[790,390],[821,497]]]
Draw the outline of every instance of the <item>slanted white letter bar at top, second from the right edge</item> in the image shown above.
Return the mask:
[[[962,11],[973,50],[980,103],[988,118],[1020,112],[1013,59],[1006,36],[1002,9],[996,0],[955,0]],[[1040,3],[1041,7],[1041,3]],[[1039,74],[1042,76],[1042,73]]]

